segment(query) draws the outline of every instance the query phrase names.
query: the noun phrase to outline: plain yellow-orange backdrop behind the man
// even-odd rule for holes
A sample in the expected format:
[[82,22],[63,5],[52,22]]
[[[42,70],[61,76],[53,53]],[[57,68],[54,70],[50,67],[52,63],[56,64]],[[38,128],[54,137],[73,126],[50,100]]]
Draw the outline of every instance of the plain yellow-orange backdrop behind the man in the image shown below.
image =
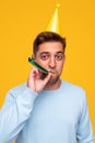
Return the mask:
[[67,37],[62,78],[86,90],[95,133],[95,0],[0,1],[0,107],[8,90],[27,79],[33,40],[47,25],[57,2]]

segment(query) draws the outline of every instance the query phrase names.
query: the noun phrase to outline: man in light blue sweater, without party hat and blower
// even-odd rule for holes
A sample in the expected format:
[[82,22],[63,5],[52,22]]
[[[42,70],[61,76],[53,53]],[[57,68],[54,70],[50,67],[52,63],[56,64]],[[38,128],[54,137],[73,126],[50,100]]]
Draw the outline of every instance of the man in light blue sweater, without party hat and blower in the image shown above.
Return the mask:
[[85,91],[60,79],[66,38],[54,32],[37,35],[26,84],[11,89],[0,119],[0,143],[93,143]]

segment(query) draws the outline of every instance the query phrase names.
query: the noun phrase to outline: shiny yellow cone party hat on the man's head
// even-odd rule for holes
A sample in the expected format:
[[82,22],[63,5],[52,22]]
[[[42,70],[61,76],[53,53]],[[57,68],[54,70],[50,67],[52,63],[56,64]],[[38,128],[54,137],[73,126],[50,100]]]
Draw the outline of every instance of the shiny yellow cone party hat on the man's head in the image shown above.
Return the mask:
[[52,32],[60,34],[59,8],[60,8],[60,4],[59,3],[56,4],[56,10],[55,10],[48,25],[46,26],[45,31],[52,31]]

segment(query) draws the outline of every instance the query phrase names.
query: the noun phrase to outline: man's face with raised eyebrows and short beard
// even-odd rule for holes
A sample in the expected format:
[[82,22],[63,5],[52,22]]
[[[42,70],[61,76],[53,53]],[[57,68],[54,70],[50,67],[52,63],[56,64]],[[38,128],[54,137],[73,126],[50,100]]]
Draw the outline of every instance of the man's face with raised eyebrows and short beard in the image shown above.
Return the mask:
[[55,84],[61,75],[64,63],[62,44],[60,42],[45,42],[40,44],[35,55],[35,62],[50,70],[52,75],[50,82]]

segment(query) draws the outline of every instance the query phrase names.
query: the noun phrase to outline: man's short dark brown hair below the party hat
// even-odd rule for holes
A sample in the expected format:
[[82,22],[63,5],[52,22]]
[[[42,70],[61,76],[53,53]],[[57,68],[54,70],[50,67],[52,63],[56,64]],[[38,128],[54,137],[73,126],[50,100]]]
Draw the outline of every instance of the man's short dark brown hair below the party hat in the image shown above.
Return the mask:
[[39,33],[33,43],[33,53],[36,54],[36,52],[39,48],[39,45],[45,42],[60,42],[63,46],[63,51],[66,50],[66,38],[60,36],[59,34],[55,32],[41,32]]

